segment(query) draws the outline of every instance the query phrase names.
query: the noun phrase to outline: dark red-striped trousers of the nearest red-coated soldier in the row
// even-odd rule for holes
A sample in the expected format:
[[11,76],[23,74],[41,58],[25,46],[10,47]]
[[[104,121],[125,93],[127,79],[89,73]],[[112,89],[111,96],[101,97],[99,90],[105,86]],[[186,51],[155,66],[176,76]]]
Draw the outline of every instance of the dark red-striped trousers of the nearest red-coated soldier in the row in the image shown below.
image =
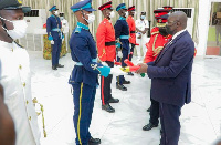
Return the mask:
[[[114,62],[105,61],[108,66],[114,68]],[[101,97],[102,104],[108,104],[107,101],[112,97],[112,79],[113,74],[109,74],[107,77],[101,76]]]

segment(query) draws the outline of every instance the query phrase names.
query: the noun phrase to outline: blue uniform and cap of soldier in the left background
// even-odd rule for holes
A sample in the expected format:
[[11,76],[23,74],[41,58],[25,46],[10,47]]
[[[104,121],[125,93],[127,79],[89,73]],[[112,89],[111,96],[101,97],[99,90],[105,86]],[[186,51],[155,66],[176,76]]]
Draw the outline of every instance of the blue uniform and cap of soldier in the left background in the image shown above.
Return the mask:
[[[57,10],[56,6],[53,6],[49,11]],[[46,32],[50,41],[54,41],[52,44],[52,66],[59,65],[60,52],[62,48],[62,32],[61,20],[56,15],[51,15],[46,20]]]

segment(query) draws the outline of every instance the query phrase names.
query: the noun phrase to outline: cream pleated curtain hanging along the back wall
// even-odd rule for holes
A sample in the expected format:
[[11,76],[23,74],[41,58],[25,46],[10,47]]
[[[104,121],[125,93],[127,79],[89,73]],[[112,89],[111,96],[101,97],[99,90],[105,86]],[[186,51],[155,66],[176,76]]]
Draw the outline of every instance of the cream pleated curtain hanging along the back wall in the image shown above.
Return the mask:
[[[46,11],[52,7],[56,6],[60,10],[60,12],[65,13],[65,19],[70,23],[70,34],[72,33],[73,29],[76,25],[76,19],[71,11],[71,6],[77,3],[81,0],[23,0],[23,6],[30,6],[32,9],[46,9]],[[92,0],[92,6],[97,11],[95,12],[96,20],[93,25],[91,25],[91,32],[93,35],[96,35],[96,30],[99,24],[99,22],[103,19],[102,12],[98,10],[98,7],[102,3],[105,3],[109,0]],[[136,17],[135,19],[139,18],[139,14],[141,11],[147,12],[147,19],[151,21],[151,27],[156,24],[155,17],[154,17],[154,10],[157,8],[161,8],[164,6],[172,6],[175,8],[194,8],[194,24],[193,24],[193,41],[198,42],[198,14],[199,14],[199,0],[112,0],[113,1],[113,8],[115,9],[119,3],[126,3],[127,7],[130,7],[135,4],[136,7]],[[113,19],[113,24],[118,19],[117,12],[116,17]],[[51,13],[48,11],[48,15],[51,15]]]

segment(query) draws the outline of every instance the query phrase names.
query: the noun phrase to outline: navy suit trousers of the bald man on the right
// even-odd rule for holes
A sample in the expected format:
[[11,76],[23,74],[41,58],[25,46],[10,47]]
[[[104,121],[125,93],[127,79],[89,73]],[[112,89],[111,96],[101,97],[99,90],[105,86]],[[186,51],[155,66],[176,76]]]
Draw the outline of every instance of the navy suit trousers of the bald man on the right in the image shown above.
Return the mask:
[[180,136],[181,107],[177,105],[159,103],[159,115],[161,123],[160,145],[178,145]]

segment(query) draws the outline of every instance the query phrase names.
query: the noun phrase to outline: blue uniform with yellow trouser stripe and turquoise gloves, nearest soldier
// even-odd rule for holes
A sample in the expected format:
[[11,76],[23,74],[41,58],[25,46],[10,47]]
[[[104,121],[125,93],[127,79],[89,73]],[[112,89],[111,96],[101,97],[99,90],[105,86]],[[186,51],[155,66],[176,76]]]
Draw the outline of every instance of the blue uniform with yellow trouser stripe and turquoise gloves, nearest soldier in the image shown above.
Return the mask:
[[[72,8],[73,12],[78,10],[95,11],[91,7],[91,0],[76,3]],[[88,131],[94,107],[96,85],[98,84],[98,74],[108,76],[109,66],[103,66],[97,63],[97,51],[94,38],[88,27],[77,22],[70,39],[72,60],[76,62],[69,83],[74,93],[74,127],[76,133],[76,145],[87,145],[92,138]],[[101,142],[101,141],[99,141]]]

